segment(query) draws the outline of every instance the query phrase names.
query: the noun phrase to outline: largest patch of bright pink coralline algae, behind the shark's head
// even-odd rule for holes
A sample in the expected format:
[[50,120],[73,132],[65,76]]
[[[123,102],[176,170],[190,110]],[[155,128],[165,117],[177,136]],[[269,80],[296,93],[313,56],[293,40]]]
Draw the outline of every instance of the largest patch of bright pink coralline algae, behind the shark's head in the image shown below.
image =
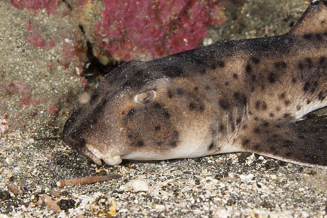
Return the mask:
[[[97,45],[116,60],[149,60],[196,48],[225,14],[219,0],[104,0]],[[105,51],[104,51],[105,52]]]

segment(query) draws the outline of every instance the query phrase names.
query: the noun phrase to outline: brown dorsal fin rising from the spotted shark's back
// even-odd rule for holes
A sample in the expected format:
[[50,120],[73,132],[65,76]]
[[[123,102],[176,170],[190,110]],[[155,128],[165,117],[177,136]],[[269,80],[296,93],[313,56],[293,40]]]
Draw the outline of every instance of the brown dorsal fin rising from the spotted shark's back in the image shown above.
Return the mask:
[[327,33],[327,1],[319,0],[319,4],[312,3],[296,25],[289,31],[295,36],[314,36]]

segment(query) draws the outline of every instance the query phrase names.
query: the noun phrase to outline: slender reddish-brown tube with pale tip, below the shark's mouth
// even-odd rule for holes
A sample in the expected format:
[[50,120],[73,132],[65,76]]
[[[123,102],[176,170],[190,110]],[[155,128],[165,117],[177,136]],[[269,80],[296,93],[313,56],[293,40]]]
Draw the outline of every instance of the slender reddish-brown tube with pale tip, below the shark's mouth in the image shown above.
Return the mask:
[[64,187],[67,185],[82,185],[82,184],[91,184],[96,182],[105,182],[110,181],[112,179],[119,179],[122,175],[120,174],[109,174],[104,176],[88,176],[88,177],[80,177],[73,179],[60,180],[57,182],[58,187]]

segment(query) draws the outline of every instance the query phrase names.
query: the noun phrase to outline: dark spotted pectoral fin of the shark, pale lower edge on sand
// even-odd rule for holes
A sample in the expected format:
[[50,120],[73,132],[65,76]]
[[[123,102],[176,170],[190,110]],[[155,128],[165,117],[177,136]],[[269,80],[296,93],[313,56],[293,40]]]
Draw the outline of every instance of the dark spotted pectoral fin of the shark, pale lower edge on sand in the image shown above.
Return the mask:
[[240,151],[303,165],[327,167],[327,116],[289,123],[247,120],[233,141]]

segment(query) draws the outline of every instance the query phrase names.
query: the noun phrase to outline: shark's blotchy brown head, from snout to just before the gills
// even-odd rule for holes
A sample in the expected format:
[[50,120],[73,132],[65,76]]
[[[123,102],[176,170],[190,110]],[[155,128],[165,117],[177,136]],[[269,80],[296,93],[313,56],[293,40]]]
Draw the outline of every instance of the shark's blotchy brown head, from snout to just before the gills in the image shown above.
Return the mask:
[[196,75],[203,70],[179,57],[128,61],[102,78],[67,120],[62,138],[97,164],[201,157],[207,150],[198,148],[210,146],[215,131],[210,115],[219,108],[211,104],[208,82],[190,80]]

